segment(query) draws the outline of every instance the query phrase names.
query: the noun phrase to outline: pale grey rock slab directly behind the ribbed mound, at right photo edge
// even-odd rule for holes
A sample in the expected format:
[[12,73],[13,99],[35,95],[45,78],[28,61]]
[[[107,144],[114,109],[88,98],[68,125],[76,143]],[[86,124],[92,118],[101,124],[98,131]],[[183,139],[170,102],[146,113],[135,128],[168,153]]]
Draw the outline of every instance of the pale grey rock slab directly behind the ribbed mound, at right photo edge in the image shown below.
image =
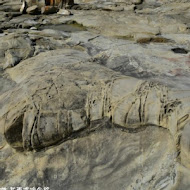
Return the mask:
[[[78,34],[73,33],[68,43],[82,44],[94,61],[124,75],[159,81],[172,88],[188,90],[189,54],[174,53],[172,51],[174,44],[171,43],[173,39],[171,37],[168,40],[166,37],[164,39],[165,43],[162,41],[155,43],[159,38],[153,38],[150,44],[139,45],[132,41],[107,39],[82,32],[80,38]],[[181,42],[176,46],[184,49],[188,47]],[[180,75],[173,73],[178,69],[181,70]]]

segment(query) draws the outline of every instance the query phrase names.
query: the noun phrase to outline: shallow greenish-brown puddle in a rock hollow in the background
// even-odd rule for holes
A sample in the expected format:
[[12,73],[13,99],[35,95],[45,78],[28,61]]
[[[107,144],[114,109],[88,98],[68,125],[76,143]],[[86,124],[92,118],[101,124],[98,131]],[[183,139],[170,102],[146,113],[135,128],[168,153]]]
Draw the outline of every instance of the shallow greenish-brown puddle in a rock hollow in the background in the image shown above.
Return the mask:
[[43,29],[53,29],[63,32],[80,32],[86,31],[86,28],[80,24],[58,24],[58,25],[43,25],[39,27],[39,30]]

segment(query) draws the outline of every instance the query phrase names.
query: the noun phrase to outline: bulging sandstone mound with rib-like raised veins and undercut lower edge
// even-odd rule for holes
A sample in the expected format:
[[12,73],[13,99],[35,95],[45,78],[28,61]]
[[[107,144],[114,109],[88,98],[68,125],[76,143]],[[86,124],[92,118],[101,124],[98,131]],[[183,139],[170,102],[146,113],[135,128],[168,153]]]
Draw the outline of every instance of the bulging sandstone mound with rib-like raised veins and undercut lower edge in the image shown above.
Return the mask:
[[[73,53],[75,59],[87,56]],[[97,64],[69,64],[68,59],[61,51],[49,52],[8,71],[18,87],[1,97],[1,120],[12,147],[48,147],[91,130],[91,123],[104,118],[128,132],[150,125],[166,128],[177,145],[180,130],[189,121],[189,92],[180,95]]]

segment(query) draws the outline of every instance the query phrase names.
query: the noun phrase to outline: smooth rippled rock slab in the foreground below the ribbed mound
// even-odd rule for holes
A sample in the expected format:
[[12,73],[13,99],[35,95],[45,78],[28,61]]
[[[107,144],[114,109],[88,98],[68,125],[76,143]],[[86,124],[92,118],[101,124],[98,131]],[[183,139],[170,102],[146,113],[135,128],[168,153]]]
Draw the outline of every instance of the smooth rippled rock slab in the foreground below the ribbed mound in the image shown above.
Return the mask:
[[[6,186],[41,187],[43,184],[58,190],[63,187],[68,190],[131,187],[157,190],[163,186],[170,188],[176,182],[174,147],[166,130],[150,127],[129,134],[109,128],[108,124],[102,127],[45,152],[24,155],[6,146],[2,159],[9,159],[1,168],[7,176],[12,176]],[[165,176],[169,176],[167,180],[163,180]]]

